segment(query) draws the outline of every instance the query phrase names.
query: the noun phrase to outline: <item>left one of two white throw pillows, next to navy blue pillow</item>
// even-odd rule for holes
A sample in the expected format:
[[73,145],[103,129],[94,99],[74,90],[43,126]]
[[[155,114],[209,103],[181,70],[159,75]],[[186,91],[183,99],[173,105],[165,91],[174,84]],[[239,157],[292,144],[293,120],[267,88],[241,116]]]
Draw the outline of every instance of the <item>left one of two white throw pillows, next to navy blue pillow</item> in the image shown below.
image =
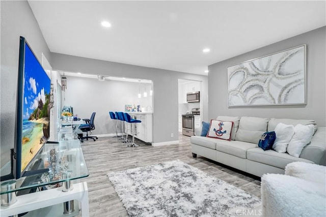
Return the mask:
[[294,126],[278,123],[274,131],[276,134],[276,139],[272,148],[277,152],[285,153],[286,147],[294,135]]

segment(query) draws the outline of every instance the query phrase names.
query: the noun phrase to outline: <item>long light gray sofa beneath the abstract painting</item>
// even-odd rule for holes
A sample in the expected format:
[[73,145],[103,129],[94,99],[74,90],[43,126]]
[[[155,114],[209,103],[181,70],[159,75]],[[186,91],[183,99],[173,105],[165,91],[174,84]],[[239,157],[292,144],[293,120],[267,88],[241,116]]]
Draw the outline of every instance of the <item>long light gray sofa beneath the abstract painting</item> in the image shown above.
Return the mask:
[[[284,174],[285,166],[296,161],[326,165],[326,127],[317,128],[314,120],[233,116],[218,116],[216,119],[234,122],[231,141],[200,136],[202,129],[197,128],[197,136],[191,137],[194,158],[199,154],[256,176],[264,173]],[[304,147],[299,158],[274,150],[264,151],[258,147],[261,135],[266,131],[274,131],[280,122],[293,126],[298,123],[314,125],[312,140]]]

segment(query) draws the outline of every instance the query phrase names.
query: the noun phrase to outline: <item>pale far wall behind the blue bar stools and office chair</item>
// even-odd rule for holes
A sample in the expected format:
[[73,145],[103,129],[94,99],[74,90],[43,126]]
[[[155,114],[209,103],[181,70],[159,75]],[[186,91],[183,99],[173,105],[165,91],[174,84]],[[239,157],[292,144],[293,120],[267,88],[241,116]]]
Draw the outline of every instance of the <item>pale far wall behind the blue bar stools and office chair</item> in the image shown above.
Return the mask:
[[[92,112],[96,112],[93,135],[115,134],[115,122],[108,115],[109,111],[125,111],[125,105],[152,107],[152,97],[149,96],[151,84],[149,83],[66,77],[67,89],[63,92],[65,100],[62,99],[62,105],[72,106],[74,115],[77,114],[82,119],[90,118]],[[145,85],[148,92],[146,98],[143,97]],[[142,98],[138,98],[139,86]]]

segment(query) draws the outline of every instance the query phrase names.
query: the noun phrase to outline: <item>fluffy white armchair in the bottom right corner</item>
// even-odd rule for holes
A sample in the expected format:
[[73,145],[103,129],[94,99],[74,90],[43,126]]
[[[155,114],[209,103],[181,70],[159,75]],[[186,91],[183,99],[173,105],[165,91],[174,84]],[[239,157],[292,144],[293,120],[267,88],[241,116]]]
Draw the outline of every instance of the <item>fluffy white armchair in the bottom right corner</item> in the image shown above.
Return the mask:
[[326,216],[326,167],[293,162],[261,177],[262,216]]

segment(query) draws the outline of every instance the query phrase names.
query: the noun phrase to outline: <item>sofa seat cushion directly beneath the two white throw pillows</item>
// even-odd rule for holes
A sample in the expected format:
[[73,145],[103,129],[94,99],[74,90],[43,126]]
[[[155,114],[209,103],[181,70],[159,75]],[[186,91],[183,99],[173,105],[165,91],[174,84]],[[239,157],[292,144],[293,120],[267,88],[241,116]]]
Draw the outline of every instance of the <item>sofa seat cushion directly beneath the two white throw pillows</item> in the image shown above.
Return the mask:
[[288,153],[279,153],[274,150],[264,151],[261,148],[248,149],[247,150],[247,159],[250,161],[267,164],[267,165],[278,167],[281,169],[285,169],[285,166],[287,164],[296,162],[296,161],[313,163],[312,161],[309,161],[309,160],[306,160],[303,158],[295,158],[293,156],[290,156],[290,154],[288,154]]

